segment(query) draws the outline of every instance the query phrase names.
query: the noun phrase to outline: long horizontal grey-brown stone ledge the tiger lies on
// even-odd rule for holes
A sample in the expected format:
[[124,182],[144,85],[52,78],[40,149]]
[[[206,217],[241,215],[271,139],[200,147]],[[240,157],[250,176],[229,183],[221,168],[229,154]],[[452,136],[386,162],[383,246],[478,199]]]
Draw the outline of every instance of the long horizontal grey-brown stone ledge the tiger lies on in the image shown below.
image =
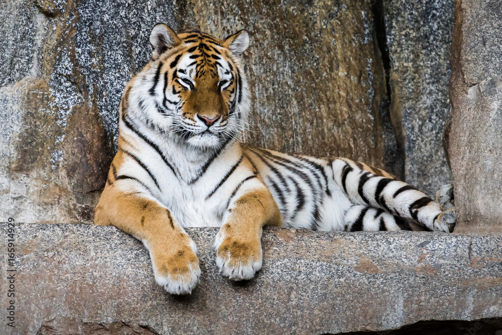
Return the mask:
[[[5,246],[7,224],[0,232]],[[114,227],[18,225],[17,328],[3,331],[319,334],[502,317],[500,235],[267,229],[263,269],[232,283],[216,270],[217,230],[187,232],[199,248],[201,282],[192,296],[172,297],[155,283],[142,244]],[[2,278],[12,269],[5,258]]]

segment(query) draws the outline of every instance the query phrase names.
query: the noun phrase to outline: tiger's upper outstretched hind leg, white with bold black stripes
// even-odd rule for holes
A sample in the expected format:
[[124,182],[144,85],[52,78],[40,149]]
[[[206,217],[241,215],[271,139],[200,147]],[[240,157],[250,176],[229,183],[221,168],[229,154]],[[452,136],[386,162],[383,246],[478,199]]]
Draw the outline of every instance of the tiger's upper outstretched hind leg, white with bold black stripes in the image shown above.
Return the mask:
[[348,159],[336,159],[332,167],[335,182],[353,204],[384,209],[431,231],[453,231],[455,211],[443,211],[439,203],[413,186],[382,170]]

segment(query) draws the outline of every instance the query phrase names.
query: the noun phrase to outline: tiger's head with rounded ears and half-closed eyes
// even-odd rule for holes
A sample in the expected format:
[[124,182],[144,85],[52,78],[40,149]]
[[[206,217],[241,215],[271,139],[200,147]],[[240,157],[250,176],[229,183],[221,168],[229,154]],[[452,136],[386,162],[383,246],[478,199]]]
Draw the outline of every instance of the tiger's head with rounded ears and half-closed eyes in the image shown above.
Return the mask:
[[143,89],[131,92],[138,95],[138,117],[193,148],[217,148],[236,138],[249,114],[240,62],[249,45],[247,32],[217,39],[196,30],[176,34],[157,24],[150,43],[152,60],[138,85]]

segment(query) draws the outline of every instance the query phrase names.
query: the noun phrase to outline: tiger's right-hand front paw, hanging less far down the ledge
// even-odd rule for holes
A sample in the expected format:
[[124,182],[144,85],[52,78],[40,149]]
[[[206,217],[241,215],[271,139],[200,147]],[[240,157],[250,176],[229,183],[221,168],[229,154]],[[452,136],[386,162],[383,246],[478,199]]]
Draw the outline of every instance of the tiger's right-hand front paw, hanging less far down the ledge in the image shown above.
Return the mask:
[[226,224],[216,235],[213,248],[219,272],[228,279],[251,279],[262,268],[259,234],[239,234]]

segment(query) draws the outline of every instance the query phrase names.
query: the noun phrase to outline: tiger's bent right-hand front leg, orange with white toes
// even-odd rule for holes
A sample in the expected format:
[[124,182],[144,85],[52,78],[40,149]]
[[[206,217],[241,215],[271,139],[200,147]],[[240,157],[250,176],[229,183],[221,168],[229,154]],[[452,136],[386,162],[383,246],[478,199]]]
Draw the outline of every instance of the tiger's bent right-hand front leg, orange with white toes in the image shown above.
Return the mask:
[[282,216],[263,185],[233,202],[216,236],[216,265],[231,280],[251,279],[262,268],[262,228],[282,225]]

